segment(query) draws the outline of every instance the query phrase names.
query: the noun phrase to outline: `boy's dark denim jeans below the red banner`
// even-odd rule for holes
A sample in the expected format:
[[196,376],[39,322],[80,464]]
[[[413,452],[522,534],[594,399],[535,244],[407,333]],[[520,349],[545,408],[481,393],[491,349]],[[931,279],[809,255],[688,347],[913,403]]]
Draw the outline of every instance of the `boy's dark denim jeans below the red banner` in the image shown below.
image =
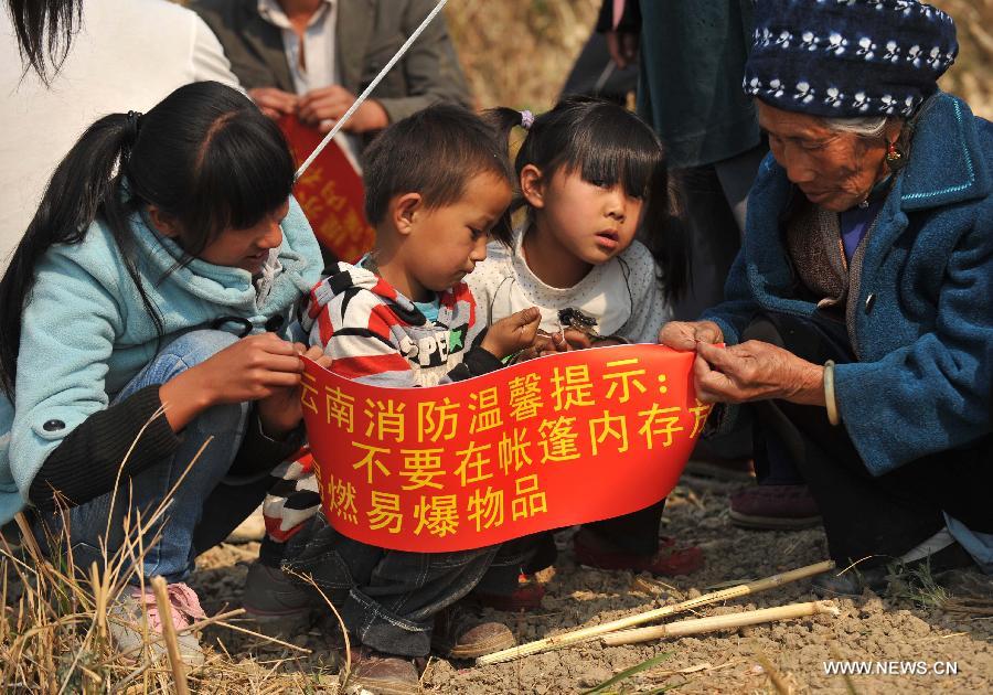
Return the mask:
[[310,575],[362,644],[414,657],[430,652],[435,616],[479,584],[499,549],[386,550],[343,536],[321,513],[289,541],[284,567]]

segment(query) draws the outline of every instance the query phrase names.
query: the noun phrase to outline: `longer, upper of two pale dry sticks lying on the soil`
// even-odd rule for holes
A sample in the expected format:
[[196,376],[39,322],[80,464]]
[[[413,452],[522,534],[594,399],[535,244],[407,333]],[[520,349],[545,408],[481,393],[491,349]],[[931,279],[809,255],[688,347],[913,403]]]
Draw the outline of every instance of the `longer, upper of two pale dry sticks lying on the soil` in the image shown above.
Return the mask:
[[808,577],[820,575],[821,573],[828,571],[829,569],[833,568],[834,563],[832,560],[824,560],[823,563],[818,563],[815,565],[808,565],[807,567],[800,567],[798,569],[784,571],[780,575],[772,575],[771,577],[766,577],[765,579],[758,579],[748,584],[741,584],[736,587],[722,589],[712,594],[704,594],[701,597],[690,599],[688,601],[682,601],[681,603],[663,606],[661,608],[655,608],[653,610],[637,613],[634,616],[628,616],[627,618],[620,618],[618,620],[605,622],[599,626],[580,628],[579,630],[564,632],[563,634],[556,634],[554,637],[537,640],[535,642],[528,642],[527,644],[521,644],[520,646],[512,646],[510,649],[494,652],[492,654],[487,654],[485,656],[480,656],[476,660],[476,663],[480,666],[485,666],[488,664],[499,664],[504,661],[513,661],[514,659],[520,659],[521,656],[540,654],[541,652],[547,652],[554,649],[562,649],[563,646],[568,646],[569,644],[586,642],[587,640],[598,638],[601,634],[607,634],[608,632],[617,632],[618,630],[633,628],[636,626],[658,620],[659,618],[664,618],[665,616],[691,610],[700,606],[706,606],[707,603],[716,603],[718,601],[726,601],[729,599],[739,598],[741,596],[748,596],[749,594],[758,594],[759,591],[773,589],[791,581],[807,579]]

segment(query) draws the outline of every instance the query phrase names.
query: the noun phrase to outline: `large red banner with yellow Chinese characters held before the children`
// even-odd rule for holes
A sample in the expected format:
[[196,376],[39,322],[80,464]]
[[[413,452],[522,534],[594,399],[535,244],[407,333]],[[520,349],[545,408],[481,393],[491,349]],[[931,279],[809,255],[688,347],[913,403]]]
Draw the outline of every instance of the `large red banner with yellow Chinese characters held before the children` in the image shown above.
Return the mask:
[[563,353],[431,388],[307,363],[303,415],[329,522],[398,550],[450,552],[618,516],[668,495],[711,406],[693,353]]

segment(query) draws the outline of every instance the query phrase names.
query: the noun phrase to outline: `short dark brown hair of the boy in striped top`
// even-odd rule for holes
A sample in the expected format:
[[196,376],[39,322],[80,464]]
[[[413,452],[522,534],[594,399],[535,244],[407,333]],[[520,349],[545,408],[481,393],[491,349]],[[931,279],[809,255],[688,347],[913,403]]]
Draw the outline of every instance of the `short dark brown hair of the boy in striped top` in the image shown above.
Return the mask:
[[479,116],[451,104],[435,104],[393,124],[362,159],[365,216],[373,226],[386,217],[394,195],[419,193],[429,210],[450,205],[483,172],[513,189],[506,146]]

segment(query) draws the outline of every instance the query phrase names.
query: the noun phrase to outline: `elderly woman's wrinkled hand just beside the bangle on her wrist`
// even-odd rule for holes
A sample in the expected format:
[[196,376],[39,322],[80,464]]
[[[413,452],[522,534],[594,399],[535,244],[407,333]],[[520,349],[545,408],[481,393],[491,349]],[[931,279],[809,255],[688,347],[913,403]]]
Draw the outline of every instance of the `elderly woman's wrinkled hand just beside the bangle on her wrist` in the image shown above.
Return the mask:
[[718,348],[697,343],[693,375],[705,403],[746,403],[780,398],[824,405],[824,367],[757,340]]

